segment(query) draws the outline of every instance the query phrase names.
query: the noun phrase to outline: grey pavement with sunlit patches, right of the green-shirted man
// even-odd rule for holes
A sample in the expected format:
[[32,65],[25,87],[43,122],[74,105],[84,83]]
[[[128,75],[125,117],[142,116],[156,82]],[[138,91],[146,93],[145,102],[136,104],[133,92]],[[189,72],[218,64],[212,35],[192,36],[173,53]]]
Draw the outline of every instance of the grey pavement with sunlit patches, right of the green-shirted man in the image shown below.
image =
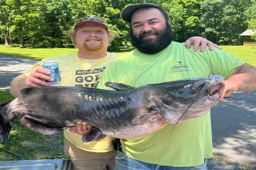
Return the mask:
[[212,108],[214,153],[231,162],[256,166],[256,91],[235,92]]

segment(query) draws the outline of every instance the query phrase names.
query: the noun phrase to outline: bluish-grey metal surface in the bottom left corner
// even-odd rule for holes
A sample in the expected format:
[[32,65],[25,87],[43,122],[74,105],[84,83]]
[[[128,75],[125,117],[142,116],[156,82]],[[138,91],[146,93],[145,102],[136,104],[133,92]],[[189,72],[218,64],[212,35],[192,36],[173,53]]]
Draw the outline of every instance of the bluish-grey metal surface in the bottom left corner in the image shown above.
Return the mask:
[[63,159],[14,160],[0,162],[0,170],[70,170],[71,161]]

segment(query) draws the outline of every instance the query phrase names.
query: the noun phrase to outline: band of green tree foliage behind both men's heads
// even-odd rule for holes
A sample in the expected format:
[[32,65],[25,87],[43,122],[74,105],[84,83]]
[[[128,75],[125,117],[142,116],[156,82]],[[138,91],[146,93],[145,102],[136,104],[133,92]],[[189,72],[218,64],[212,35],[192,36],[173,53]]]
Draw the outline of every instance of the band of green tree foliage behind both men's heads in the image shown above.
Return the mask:
[[63,47],[71,44],[68,30],[82,15],[104,18],[116,39],[108,50],[127,45],[129,23],[121,20],[124,6],[156,3],[170,16],[174,40],[204,36],[218,44],[239,44],[238,36],[255,29],[255,0],[0,0],[0,44]]

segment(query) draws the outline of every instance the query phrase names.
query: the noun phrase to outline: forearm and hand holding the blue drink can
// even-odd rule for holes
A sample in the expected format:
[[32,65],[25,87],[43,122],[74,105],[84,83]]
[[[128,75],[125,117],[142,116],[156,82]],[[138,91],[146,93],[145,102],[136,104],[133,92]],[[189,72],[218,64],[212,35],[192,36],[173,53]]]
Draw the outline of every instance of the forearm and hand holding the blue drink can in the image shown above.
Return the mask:
[[46,80],[52,81],[52,78],[49,77],[49,71],[42,68],[35,69],[28,77],[21,74],[11,82],[11,94],[14,97],[20,97],[20,90],[23,88],[51,86],[50,83],[45,82]]

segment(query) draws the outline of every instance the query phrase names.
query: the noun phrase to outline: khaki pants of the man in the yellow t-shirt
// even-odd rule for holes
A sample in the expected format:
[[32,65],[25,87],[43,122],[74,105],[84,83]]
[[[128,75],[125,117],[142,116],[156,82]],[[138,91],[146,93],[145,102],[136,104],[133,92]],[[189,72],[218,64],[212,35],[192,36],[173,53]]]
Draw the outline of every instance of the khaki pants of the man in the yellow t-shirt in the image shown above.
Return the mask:
[[77,148],[64,140],[64,152],[72,161],[73,170],[114,170],[116,150],[110,152],[89,152]]

